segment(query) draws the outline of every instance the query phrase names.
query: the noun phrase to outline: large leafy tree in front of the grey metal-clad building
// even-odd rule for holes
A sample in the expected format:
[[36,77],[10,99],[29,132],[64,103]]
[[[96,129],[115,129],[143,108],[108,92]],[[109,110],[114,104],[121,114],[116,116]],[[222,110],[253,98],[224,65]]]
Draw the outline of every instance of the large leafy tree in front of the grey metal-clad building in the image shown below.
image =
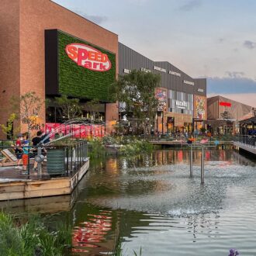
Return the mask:
[[150,133],[157,112],[155,88],[159,86],[160,81],[159,74],[133,70],[130,74],[119,76],[118,81],[110,88],[112,100],[125,102],[125,111],[131,112],[138,120],[137,126],[144,125],[144,132],[148,129]]

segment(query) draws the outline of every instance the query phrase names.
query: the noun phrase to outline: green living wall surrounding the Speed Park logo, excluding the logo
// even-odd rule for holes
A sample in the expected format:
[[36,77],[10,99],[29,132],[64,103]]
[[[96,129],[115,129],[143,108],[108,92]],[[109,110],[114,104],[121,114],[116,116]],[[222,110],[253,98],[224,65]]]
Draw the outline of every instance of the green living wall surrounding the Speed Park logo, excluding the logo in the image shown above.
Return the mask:
[[[108,55],[112,67],[109,71],[99,72],[78,66],[65,52],[65,47],[69,43],[84,43],[100,50]],[[111,102],[109,85],[116,78],[116,54],[58,31],[58,78],[60,94],[80,99],[99,99],[102,102]]]

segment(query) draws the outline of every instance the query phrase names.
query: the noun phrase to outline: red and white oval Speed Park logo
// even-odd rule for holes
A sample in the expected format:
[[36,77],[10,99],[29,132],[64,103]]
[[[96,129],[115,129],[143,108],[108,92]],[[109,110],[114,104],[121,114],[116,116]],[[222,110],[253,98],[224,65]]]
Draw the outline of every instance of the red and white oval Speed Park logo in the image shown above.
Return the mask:
[[66,46],[67,56],[78,66],[88,68],[92,71],[109,71],[111,62],[107,54],[88,45],[71,43]]

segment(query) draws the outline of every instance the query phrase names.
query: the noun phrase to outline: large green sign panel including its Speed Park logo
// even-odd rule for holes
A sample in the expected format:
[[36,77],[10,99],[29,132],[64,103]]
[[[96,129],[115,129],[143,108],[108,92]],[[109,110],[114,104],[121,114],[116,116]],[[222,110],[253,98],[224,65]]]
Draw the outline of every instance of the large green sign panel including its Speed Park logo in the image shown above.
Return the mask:
[[[60,30],[50,30],[47,37],[48,49],[56,49],[56,70],[48,62],[48,70],[57,74],[47,82],[48,90],[56,81],[54,95],[68,95],[79,99],[98,99],[112,102],[109,86],[116,81],[116,54],[92,45]],[[52,44],[53,37],[57,45]],[[46,54],[50,54],[48,51]],[[53,58],[49,55],[48,59]],[[50,73],[50,74],[51,74]],[[50,91],[52,92],[52,91]],[[51,93],[50,93],[51,94]]]

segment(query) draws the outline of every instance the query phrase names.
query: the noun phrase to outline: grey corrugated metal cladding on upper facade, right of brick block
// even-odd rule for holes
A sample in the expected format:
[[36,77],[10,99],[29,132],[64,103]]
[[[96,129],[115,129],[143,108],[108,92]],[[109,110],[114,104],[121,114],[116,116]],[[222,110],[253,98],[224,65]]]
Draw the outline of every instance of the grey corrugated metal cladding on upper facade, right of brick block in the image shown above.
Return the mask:
[[[160,67],[166,72],[157,71],[154,66]],[[123,43],[119,43],[119,74],[125,74],[124,70],[141,70],[141,68],[146,68],[155,74],[161,74],[161,87],[206,96],[206,78],[193,79],[168,61],[151,61],[137,51],[126,47]],[[169,74],[170,71],[172,74]]]

